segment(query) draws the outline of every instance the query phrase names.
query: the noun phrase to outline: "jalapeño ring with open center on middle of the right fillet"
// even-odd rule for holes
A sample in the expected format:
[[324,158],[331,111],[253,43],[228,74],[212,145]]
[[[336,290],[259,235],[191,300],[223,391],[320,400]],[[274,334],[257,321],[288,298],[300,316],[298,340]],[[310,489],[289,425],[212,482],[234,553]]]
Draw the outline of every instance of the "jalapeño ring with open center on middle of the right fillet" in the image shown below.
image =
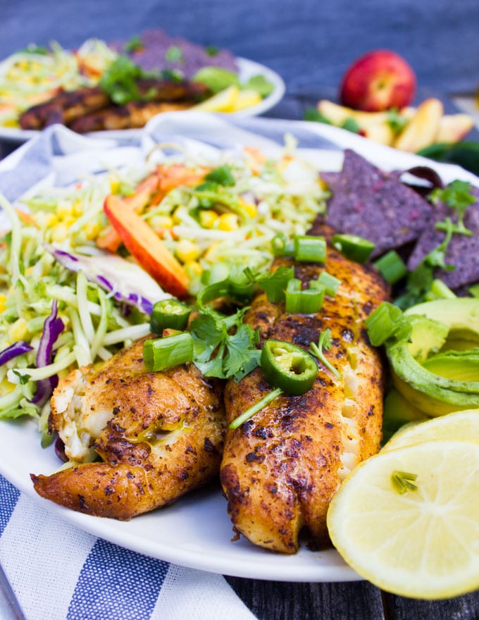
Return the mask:
[[270,385],[290,396],[307,392],[318,374],[318,364],[308,352],[291,342],[269,339],[261,350],[261,370]]

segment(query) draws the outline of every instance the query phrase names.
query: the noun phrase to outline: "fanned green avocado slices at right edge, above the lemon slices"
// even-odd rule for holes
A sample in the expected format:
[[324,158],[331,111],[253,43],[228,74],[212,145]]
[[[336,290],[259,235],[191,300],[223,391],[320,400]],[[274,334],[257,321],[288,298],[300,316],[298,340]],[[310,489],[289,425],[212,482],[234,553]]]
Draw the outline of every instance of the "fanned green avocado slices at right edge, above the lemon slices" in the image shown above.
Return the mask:
[[[386,343],[394,387],[429,416],[479,409],[479,349],[474,347],[479,299],[425,302],[408,309],[403,320],[411,324],[409,339]],[[461,342],[461,350],[452,350],[452,342]]]

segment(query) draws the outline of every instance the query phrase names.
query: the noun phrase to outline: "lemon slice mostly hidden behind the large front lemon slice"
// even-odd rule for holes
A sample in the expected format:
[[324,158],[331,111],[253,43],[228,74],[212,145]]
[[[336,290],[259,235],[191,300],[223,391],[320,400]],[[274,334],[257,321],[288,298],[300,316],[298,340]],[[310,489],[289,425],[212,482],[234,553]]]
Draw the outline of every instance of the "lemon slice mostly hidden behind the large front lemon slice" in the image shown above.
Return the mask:
[[406,445],[437,439],[477,440],[479,442],[479,409],[465,409],[439,418],[405,426],[382,448],[395,450]]

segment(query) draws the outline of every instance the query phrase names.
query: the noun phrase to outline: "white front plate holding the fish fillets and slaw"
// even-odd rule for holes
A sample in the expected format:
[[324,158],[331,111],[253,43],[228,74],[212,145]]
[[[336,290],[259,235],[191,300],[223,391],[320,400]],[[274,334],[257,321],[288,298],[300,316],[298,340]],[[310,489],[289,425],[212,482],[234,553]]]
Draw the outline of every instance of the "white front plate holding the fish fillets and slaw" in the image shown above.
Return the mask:
[[[287,133],[300,140],[301,156],[323,170],[340,168],[341,149],[349,147],[384,169],[430,165],[442,175],[444,182],[463,178],[479,185],[478,178],[457,166],[435,164],[418,156],[374,144],[345,130],[301,121],[267,118],[233,120],[207,113],[165,113],[158,115],[145,128],[142,148],[149,152],[151,140],[168,142],[182,136],[191,144],[196,140],[206,140],[223,147],[249,144],[261,149],[280,149],[277,142],[281,144]],[[13,172],[23,180],[22,192],[29,187],[25,184],[33,182],[34,175],[31,175],[29,166],[39,165],[36,156],[29,160],[27,155],[29,151],[34,155],[38,150],[37,144],[43,144],[47,139],[52,140],[57,149],[63,149],[63,155],[57,153],[52,158],[53,168],[44,171],[48,178],[54,178],[56,182],[64,180],[68,173],[71,176],[72,169],[75,175],[80,174],[80,171],[81,174],[86,173],[87,166],[94,171],[99,161],[108,161],[108,156],[116,165],[121,161],[135,161],[132,147],[111,148],[111,145],[89,140],[56,126],[0,162],[0,171],[8,171],[8,174]],[[321,145],[321,149],[318,149],[318,145]],[[22,166],[20,161],[31,163]],[[30,481],[30,473],[48,474],[58,465],[53,447],[40,447],[35,422],[0,421],[0,473],[45,509],[82,530],[151,557],[220,574],[303,582],[361,579],[335,550],[312,552],[302,546],[297,554],[285,556],[255,547],[244,538],[232,541],[232,524],[218,485],[191,493],[170,507],[138,516],[126,523],[58,507],[39,497]]]

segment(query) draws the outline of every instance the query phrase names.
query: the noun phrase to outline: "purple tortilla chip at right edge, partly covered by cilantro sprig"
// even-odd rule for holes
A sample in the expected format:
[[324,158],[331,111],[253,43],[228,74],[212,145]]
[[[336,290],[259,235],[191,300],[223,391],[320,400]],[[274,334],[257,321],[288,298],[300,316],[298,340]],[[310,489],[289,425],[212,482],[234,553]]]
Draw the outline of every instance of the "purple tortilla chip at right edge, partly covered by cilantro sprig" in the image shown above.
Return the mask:
[[[436,278],[440,278],[452,289],[479,282],[479,188],[473,187],[471,194],[476,201],[466,209],[464,225],[473,234],[470,237],[460,234],[452,235],[447,246],[445,263],[454,266],[454,269],[452,271],[436,269],[434,274]],[[444,203],[437,204],[434,209],[433,221],[419,237],[411,256],[409,256],[407,263],[409,270],[415,269],[431,250],[444,241],[446,233],[442,230],[436,230],[434,225],[446,217],[451,218],[453,222],[457,221],[454,209]]]

